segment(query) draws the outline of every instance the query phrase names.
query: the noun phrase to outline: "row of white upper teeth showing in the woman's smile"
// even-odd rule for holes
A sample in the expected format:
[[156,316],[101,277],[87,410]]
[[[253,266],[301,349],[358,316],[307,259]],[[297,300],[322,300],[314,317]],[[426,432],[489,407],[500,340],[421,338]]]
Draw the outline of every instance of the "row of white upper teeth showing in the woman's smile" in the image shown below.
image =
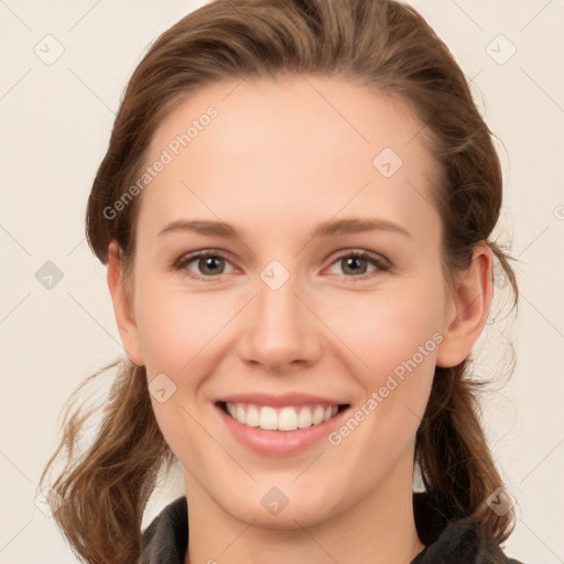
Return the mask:
[[282,408],[276,411],[269,405],[260,406],[246,403],[226,403],[227,412],[232,419],[243,425],[260,427],[265,431],[295,431],[307,429],[334,417],[338,412],[337,405],[323,408],[310,406]]

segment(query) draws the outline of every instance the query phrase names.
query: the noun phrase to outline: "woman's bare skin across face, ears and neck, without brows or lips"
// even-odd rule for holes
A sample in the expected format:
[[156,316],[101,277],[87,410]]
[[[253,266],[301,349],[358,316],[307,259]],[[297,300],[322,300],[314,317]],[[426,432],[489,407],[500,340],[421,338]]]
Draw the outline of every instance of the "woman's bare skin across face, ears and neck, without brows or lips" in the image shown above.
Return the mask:
[[[149,382],[165,373],[176,386],[152,402],[184,468],[185,562],[408,563],[424,549],[412,511],[415,432],[435,366],[462,362],[481,333],[491,251],[478,245],[470,268],[445,280],[430,204],[436,164],[405,104],[337,77],[218,83],[165,118],[147,162],[209,106],[218,117],[142,193],[130,295],[113,243],[108,264],[130,360]],[[403,161],[389,178],[372,165],[387,147]],[[393,221],[409,236],[310,236],[351,217]],[[158,235],[196,218],[220,218],[239,238]],[[228,256],[213,265],[223,273],[197,260],[170,269],[203,249]],[[341,259],[355,250],[379,253],[391,270],[361,262],[351,273]],[[290,273],[275,291],[260,278],[274,259]],[[299,391],[355,411],[434,334],[442,343],[338,446],[259,455],[214,406],[232,393]],[[272,487],[289,499],[278,514],[261,505]]]

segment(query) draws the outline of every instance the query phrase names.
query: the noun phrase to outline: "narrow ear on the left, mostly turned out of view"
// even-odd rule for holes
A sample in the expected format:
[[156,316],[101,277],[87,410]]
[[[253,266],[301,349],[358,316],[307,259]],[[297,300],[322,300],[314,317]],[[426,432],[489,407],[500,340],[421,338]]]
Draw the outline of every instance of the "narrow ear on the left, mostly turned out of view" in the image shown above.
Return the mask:
[[133,365],[143,366],[139,333],[133,317],[132,296],[126,291],[121,254],[116,241],[112,241],[108,248],[107,281],[126,354]]

